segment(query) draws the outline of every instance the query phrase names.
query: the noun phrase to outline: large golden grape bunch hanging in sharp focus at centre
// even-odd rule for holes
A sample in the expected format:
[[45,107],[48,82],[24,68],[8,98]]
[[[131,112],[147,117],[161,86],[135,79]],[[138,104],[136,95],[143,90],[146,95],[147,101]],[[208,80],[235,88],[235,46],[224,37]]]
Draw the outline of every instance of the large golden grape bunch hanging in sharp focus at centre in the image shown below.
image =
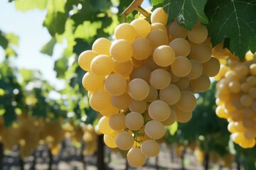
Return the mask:
[[191,119],[194,93],[206,91],[220,69],[206,26],[187,30],[176,20],[166,26],[163,8],[150,20],[119,24],[112,42],[98,38],[78,57],[90,106],[102,115],[97,126],[105,144],[129,150],[135,167],[159,154],[156,140],[165,126]]

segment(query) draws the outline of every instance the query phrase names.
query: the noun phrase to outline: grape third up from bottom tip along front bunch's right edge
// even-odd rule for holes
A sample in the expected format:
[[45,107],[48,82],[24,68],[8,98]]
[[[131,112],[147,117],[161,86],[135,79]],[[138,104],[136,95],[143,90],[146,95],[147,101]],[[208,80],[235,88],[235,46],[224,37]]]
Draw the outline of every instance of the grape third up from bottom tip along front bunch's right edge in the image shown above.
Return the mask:
[[165,134],[163,123],[156,120],[150,120],[149,122],[147,122],[144,130],[146,135],[154,140],[160,139]]

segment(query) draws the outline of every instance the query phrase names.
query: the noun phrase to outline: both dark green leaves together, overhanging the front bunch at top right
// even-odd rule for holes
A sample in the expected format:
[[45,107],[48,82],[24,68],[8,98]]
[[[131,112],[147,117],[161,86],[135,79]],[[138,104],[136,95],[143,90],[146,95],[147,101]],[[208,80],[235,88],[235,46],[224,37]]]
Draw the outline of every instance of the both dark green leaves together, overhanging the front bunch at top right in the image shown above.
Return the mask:
[[256,2],[252,0],[152,0],[157,6],[164,6],[169,18],[188,29],[197,19],[208,26],[213,46],[225,40],[225,45],[240,60],[245,52],[256,52]]

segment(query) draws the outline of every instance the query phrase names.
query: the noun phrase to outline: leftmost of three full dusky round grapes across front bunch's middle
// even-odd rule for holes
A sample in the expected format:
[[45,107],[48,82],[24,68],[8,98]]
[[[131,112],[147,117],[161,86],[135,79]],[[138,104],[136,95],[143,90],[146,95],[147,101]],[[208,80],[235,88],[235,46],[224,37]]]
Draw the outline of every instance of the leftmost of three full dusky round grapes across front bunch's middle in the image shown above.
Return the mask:
[[121,74],[110,74],[105,79],[104,88],[108,93],[120,96],[127,88],[127,81]]

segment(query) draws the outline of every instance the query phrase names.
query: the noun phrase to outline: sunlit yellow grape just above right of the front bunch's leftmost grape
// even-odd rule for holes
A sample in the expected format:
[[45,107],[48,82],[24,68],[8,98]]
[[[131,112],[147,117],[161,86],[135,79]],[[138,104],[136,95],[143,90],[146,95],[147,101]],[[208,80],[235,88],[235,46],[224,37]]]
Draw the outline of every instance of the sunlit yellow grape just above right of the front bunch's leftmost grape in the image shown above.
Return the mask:
[[92,44],[92,51],[97,52],[98,55],[107,55],[110,56],[110,40],[107,38],[98,38]]

